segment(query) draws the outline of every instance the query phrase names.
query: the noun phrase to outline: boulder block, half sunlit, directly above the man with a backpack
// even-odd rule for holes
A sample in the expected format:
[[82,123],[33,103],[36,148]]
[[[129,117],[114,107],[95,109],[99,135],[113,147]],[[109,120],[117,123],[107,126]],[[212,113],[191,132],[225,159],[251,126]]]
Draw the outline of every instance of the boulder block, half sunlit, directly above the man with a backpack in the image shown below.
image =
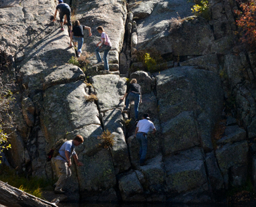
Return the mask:
[[77,81],[46,90],[41,122],[48,142],[54,143],[86,125],[100,125],[97,106],[85,99],[85,87],[82,81]]

